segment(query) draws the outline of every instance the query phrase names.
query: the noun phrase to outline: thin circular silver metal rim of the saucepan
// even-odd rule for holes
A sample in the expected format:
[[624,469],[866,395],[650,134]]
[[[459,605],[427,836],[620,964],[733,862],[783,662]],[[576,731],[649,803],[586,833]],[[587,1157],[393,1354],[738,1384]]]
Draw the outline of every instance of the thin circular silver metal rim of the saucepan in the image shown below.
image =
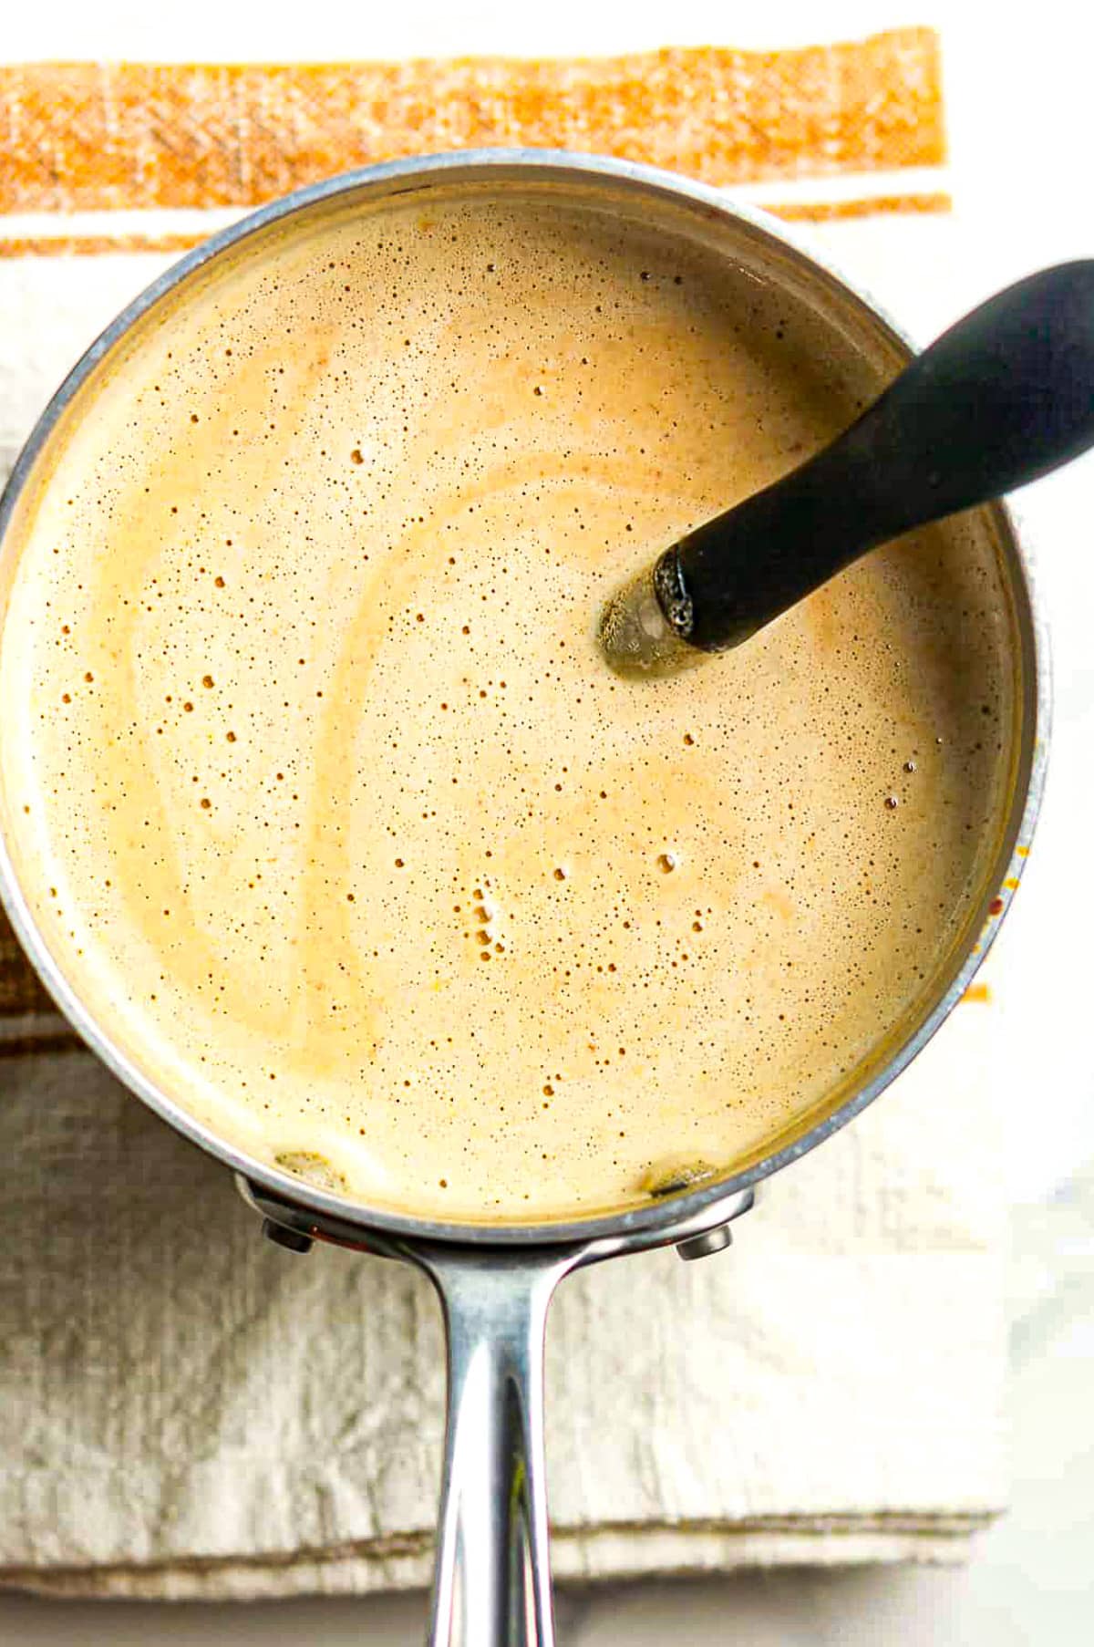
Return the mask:
[[[104,357],[125,338],[130,328],[152,310],[166,293],[188,280],[196,270],[221,257],[229,249],[237,247],[249,236],[269,229],[282,219],[292,217],[308,208],[354,191],[389,191],[400,193],[415,186],[430,186],[443,181],[498,181],[504,170],[514,176],[544,181],[595,181],[616,183],[623,194],[654,194],[671,199],[676,204],[692,204],[705,209],[708,216],[748,226],[753,234],[766,236],[784,250],[796,255],[802,273],[814,273],[827,280],[830,287],[842,292],[860,310],[865,310],[881,333],[888,333],[888,341],[898,348],[914,352],[914,344],[906,333],[891,320],[886,310],[877,303],[863,288],[849,280],[842,270],[835,268],[825,257],[817,255],[814,245],[806,244],[792,229],[771,217],[768,212],[733,201],[732,193],[697,183],[690,178],[677,176],[656,166],[646,166],[629,160],[611,160],[598,155],[578,155],[567,150],[547,148],[478,148],[456,150],[443,155],[423,155],[405,160],[390,160],[382,165],[364,166],[356,171],[341,173],[321,183],[295,189],[267,206],[247,214],[239,222],[219,231],[204,240],[193,252],[188,252],[157,280],[153,280],[120,315],[101,333],[91,348],[81,356],[68,374],[61,387],[51,397],[44,412],[38,418],[31,435],[23,446],[8,484],[0,497],[0,555],[16,501],[31,481],[38,460],[46,451],[53,430],[61,415],[81,390],[87,377],[97,369]],[[1010,842],[1008,861],[1002,866],[998,883],[989,889],[984,919],[974,939],[970,939],[956,975],[946,990],[923,1016],[918,1026],[893,1051],[886,1062],[875,1069],[867,1080],[853,1090],[829,1115],[807,1127],[801,1135],[791,1138],[783,1146],[773,1150],[763,1159],[735,1173],[732,1178],[718,1179],[667,1196],[662,1201],[651,1201],[639,1207],[619,1212],[600,1212],[583,1219],[542,1220],[529,1224],[488,1224],[417,1219],[410,1214],[349,1201],[331,1191],[320,1189],[302,1181],[298,1176],[282,1171],[272,1163],[247,1155],[244,1150],[221,1138],[214,1128],[198,1120],[186,1108],[176,1103],[160,1085],[140,1071],[117,1046],[110,1034],[97,1023],[79,993],[69,985],[63,967],[49,952],[46,940],[33,917],[30,904],[23,896],[12,853],[0,832],[0,903],[7,909],[8,919],[33,962],[41,982],[58,1003],[68,1021],[82,1041],[102,1059],[102,1062],[157,1115],[168,1122],[176,1131],[222,1161],[249,1184],[260,1186],[278,1201],[297,1209],[315,1214],[316,1220],[330,1220],[343,1229],[359,1229],[362,1235],[376,1232],[387,1242],[440,1242],[458,1243],[476,1248],[537,1248],[542,1245],[585,1245],[610,1239],[615,1247],[646,1245],[659,1234],[666,1239],[680,1224],[715,1224],[718,1207],[730,1202],[743,1189],[769,1178],[779,1168],[788,1166],[799,1156],[814,1150],[819,1143],[839,1131],[868,1103],[872,1103],[890,1082],[911,1062],[926,1046],[954,1005],[967,990],[972,977],[980,967],[1000,921],[1007,912],[1013,891],[1022,878],[1030,840],[1036,825],[1036,817],[1045,787],[1045,771],[1048,761],[1048,728],[1051,712],[1051,687],[1048,665],[1048,637],[1040,609],[1036,581],[1030,563],[1028,545],[1017,530],[1005,506],[993,506],[995,525],[1003,558],[1010,573],[1010,596],[1015,601],[1015,618],[1018,628],[1018,644],[1022,649],[1022,749],[1020,759],[1025,764],[1025,781],[1022,772],[1015,784],[1010,815],[1007,820],[1005,840]]]

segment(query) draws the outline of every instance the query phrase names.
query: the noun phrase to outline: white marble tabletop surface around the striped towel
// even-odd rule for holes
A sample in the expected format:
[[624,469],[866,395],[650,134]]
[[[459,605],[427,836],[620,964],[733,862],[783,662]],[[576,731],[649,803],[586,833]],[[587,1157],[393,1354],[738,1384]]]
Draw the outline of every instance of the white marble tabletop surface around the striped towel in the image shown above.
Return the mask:
[[[1076,13],[1079,7],[1071,8]],[[547,8],[227,7],[145,3],[3,8],[0,54],[26,58],[362,58],[437,53],[618,51],[634,46],[783,44],[937,20],[929,3],[883,0],[822,10],[771,3],[761,13],[708,0]],[[12,12],[15,15],[12,15]],[[992,287],[1038,264],[1094,255],[1089,186],[1089,64],[1094,20],[1061,0],[987,7],[951,0],[941,13],[956,188],[975,180],[967,290],[942,303],[923,270],[921,334]],[[830,242],[834,244],[834,242]],[[853,229],[835,255],[855,262]],[[885,293],[880,293],[885,296]],[[1015,1495],[1010,1517],[967,1570],[741,1575],[702,1583],[618,1586],[560,1598],[563,1647],[680,1639],[689,1647],[764,1644],[961,1644],[1086,1647],[1094,1640],[1094,917],[1087,843],[1094,817],[1094,458],[1023,494],[1040,547],[1054,641],[1053,769],[1036,851],[1000,937],[1007,995],[1000,1107],[1008,1133]],[[743,1239],[743,1237],[741,1237]],[[732,1263],[732,1257],[718,1262]],[[257,1644],[417,1640],[422,1598],[272,1606],[46,1604],[0,1596],[0,1644]]]

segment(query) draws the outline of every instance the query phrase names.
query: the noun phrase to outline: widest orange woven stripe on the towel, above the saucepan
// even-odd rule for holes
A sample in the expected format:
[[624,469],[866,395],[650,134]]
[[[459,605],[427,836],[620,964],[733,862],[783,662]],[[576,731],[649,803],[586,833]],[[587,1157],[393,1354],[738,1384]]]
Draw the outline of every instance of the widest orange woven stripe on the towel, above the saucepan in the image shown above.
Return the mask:
[[715,184],[944,158],[937,36],[603,59],[0,68],[0,212],[255,206],[397,155],[644,160]]

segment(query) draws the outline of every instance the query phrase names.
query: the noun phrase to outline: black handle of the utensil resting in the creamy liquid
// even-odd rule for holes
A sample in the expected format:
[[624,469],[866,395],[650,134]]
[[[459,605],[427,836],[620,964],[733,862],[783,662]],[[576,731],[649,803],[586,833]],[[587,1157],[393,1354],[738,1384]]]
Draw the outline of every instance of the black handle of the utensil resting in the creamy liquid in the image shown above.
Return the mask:
[[830,446],[680,539],[659,590],[692,646],[736,646],[877,544],[1091,445],[1094,262],[1061,264],[965,315]]

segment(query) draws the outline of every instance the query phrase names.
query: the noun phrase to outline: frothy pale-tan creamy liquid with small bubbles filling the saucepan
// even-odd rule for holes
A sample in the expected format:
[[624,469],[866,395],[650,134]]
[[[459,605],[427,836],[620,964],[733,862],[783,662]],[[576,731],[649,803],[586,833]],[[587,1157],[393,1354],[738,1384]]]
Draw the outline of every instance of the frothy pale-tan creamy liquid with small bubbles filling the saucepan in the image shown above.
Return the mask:
[[900,1029],[1012,741],[985,535],[616,680],[603,598],[853,415],[794,316],[591,209],[297,232],[145,329],[21,532],[36,917],[222,1135],[471,1219],[725,1169]]

